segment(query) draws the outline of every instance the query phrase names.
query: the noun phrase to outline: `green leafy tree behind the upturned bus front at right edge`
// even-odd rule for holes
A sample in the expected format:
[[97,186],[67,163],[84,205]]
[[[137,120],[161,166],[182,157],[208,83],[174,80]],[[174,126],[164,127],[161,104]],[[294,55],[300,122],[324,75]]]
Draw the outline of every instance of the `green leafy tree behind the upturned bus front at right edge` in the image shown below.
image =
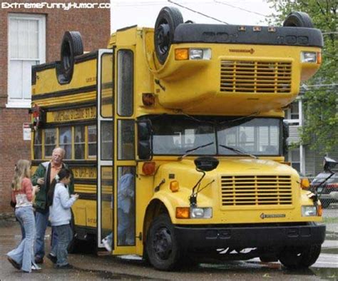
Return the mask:
[[[337,96],[337,0],[267,0],[276,13],[270,24],[282,24],[292,11],[304,11],[314,27],[322,31],[322,66],[309,81],[304,93],[304,125],[301,141],[321,153],[338,147]],[[324,86],[329,85],[329,86]]]

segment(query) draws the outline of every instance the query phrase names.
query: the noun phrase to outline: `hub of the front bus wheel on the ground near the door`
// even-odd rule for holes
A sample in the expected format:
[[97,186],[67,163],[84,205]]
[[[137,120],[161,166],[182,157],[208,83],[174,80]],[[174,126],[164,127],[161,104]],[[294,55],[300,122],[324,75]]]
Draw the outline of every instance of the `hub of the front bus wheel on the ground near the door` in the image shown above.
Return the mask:
[[167,260],[172,252],[173,242],[170,231],[160,228],[156,231],[153,239],[153,249],[161,260]]

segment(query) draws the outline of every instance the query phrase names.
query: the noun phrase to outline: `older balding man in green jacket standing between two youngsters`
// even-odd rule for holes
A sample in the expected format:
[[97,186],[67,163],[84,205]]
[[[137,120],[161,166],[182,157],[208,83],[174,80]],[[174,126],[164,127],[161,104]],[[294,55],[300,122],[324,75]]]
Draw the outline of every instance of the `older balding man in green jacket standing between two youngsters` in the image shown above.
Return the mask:
[[[46,233],[46,228],[48,224],[49,217],[49,207],[47,203],[47,194],[49,187],[53,178],[58,174],[58,171],[61,168],[68,168],[68,166],[63,163],[63,157],[65,155],[65,150],[63,148],[54,148],[51,155],[51,160],[39,164],[39,167],[36,169],[34,175],[31,177],[31,182],[33,185],[40,185],[39,193],[36,193],[34,207],[36,209],[36,243],[35,243],[35,262],[43,263],[43,257],[45,255],[45,243],[44,237]],[[68,186],[69,192],[73,194],[74,192],[74,182],[73,177],[71,177],[71,183]],[[52,262],[56,262],[56,244],[57,237],[55,231],[52,231],[52,242],[51,242],[51,253],[48,255],[48,258]]]

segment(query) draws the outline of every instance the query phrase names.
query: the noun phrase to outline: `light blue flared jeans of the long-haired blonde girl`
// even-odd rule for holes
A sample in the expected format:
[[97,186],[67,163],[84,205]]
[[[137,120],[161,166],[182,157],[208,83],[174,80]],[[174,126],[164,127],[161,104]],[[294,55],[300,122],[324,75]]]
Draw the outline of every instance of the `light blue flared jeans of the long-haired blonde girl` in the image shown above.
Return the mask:
[[31,266],[34,262],[34,235],[35,235],[35,221],[33,207],[19,207],[15,210],[16,218],[19,223],[24,226],[25,238],[21,240],[16,249],[7,253],[8,257],[21,265],[21,270],[31,272]]

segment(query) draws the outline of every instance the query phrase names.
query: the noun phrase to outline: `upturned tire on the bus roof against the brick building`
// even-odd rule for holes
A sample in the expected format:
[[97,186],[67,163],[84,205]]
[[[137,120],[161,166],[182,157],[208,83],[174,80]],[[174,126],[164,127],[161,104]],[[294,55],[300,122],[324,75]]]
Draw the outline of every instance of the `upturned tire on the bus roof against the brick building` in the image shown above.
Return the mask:
[[70,82],[73,77],[76,56],[83,54],[83,43],[78,31],[66,31],[61,43],[61,75],[63,81]]

